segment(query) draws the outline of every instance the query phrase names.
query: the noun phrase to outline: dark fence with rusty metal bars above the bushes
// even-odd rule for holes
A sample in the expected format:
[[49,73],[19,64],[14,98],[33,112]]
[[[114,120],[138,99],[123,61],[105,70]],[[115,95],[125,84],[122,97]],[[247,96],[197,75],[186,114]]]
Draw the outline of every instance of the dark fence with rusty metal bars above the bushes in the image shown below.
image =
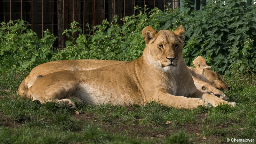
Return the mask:
[[[172,9],[180,6],[180,0],[0,0],[0,21],[25,20],[39,37],[49,29],[58,36],[54,47],[63,48],[66,39],[62,32],[74,20],[80,23],[84,33],[87,23],[95,26],[105,19],[111,22],[114,15],[123,18],[138,14],[134,11],[136,5],[164,10],[167,3]],[[121,23],[120,19],[117,22]]]

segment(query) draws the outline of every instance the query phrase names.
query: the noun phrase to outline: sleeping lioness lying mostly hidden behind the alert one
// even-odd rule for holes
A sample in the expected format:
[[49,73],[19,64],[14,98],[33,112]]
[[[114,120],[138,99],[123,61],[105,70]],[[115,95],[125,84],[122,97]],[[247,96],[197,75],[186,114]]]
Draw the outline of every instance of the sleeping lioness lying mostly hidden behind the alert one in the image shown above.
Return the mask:
[[[37,78],[45,76],[49,73],[62,70],[77,71],[96,69],[124,62],[125,61],[115,60],[61,60],[47,62],[38,65],[31,70],[30,74],[21,82],[17,94],[23,95],[23,92],[26,91],[31,85],[33,85]],[[216,87],[223,90],[229,90],[229,85],[224,83],[216,72],[210,70],[211,67],[206,64],[205,59],[201,56],[198,56],[193,61],[193,64],[195,68],[188,68],[192,74],[196,88],[202,92],[208,92],[219,96],[221,99],[228,100],[228,97],[223,92],[216,89]]]

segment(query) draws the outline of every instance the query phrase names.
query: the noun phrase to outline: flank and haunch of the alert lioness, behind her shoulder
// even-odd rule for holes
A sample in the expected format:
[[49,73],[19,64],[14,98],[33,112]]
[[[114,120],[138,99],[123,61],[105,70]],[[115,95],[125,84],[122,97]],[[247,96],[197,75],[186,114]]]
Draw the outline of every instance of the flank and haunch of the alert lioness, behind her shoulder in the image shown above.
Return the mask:
[[[27,92],[36,90],[39,101],[50,100],[54,95],[55,99],[72,97],[87,104],[144,105],[136,84],[135,64],[136,61],[132,61],[119,64],[118,67],[107,66],[94,70],[51,73],[36,80],[29,88],[31,91],[26,91],[24,95],[30,95]],[[41,89],[45,84],[54,89]],[[45,96],[46,93],[48,97]]]

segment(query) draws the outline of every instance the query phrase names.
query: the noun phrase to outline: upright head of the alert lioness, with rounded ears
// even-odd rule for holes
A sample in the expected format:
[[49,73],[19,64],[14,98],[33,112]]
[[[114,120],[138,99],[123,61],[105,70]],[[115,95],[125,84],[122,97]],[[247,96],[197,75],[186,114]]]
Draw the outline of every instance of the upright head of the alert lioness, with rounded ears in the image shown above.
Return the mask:
[[156,68],[169,71],[179,67],[183,51],[183,34],[185,30],[181,25],[175,31],[157,31],[147,26],[142,30],[146,42],[143,56]]

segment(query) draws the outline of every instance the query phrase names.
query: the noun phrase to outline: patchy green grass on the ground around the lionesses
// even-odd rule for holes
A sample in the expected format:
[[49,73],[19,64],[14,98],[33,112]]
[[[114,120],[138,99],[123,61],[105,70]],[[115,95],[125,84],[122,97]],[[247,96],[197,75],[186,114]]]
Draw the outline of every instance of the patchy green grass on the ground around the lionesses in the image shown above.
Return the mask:
[[[151,102],[138,105],[83,105],[18,99],[27,72],[0,67],[0,143],[228,143],[256,140],[256,78],[225,77],[225,92],[237,106],[175,109]],[[79,113],[77,113],[79,112]],[[232,143],[232,142],[229,142]]]

